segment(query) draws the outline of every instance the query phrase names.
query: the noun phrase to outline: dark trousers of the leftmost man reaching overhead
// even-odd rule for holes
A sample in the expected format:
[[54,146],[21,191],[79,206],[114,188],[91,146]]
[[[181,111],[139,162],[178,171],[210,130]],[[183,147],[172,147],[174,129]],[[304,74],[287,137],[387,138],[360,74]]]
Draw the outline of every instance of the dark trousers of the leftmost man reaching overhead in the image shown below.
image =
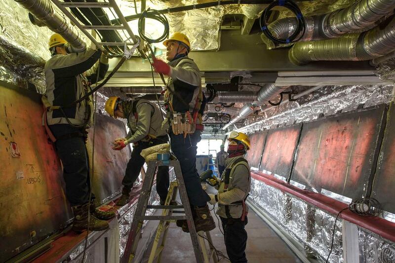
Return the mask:
[[72,206],[85,204],[89,200],[90,178],[83,133],[68,124],[51,125],[50,129],[57,138],[55,148],[63,165],[66,197]]

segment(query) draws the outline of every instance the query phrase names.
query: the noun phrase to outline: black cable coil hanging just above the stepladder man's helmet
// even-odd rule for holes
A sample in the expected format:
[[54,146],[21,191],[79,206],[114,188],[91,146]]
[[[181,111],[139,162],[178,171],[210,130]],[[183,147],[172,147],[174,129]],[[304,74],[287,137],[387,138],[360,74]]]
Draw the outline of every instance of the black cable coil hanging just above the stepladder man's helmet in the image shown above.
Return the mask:
[[[144,22],[146,18],[157,20],[163,25],[163,34],[159,38],[151,39],[144,35]],[[138,30],[140,38],[144,39],[147,43],[159,43],[169,37],[169,22],[164,14],[161,14],[158,10],[148,8],[139,17]]]

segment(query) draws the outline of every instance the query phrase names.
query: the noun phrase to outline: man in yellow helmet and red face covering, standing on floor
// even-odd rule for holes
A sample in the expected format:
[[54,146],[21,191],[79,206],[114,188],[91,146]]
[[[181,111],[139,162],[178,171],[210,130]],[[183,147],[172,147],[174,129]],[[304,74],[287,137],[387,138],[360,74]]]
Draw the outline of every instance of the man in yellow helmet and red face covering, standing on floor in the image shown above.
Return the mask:
[[218,193],[209,194],[210,204],[218,203],[217,215],[224,229],[226,252],[231,262],[247,262],[245,246],[247,244],[248,207],[245,199],[250,191],[250,167],[243,155],[250,149],[248,136],[233,131],[228,138],[228,159],[222,175]]

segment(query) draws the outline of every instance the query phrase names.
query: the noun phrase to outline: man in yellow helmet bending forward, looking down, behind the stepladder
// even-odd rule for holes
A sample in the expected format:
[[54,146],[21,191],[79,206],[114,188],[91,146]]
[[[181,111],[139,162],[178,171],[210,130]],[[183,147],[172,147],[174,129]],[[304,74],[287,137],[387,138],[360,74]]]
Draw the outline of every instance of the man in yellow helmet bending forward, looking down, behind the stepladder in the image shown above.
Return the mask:
[[[133,145],[132,154],[122,180],[122,196],[117,201],[118,206],[124,206],[130,201],[131,188],[145,162],[143,156],[140,155],[141,151],[158,144],[167,143],[167,133],[160,128],[162,122],[160,110],[147,100],[124,101],[119,97],[110,97],[106,102],[105,110],[115,118],[127,119],[129,127],[126,138],[116,139],[113,149],[122,150],[128,144]],[[157,192],[161,204],[164,204],[166,200],[168,188],[169,167],[159,166]]]

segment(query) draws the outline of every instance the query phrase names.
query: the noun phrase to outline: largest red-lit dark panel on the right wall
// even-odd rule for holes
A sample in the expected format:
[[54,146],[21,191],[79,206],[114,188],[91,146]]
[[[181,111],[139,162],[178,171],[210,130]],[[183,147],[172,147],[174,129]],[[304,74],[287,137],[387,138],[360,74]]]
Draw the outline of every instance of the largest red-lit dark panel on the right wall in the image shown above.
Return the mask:
[[370,191],[385,105],[304,123],[291,179],[307,188],[360,198]]

